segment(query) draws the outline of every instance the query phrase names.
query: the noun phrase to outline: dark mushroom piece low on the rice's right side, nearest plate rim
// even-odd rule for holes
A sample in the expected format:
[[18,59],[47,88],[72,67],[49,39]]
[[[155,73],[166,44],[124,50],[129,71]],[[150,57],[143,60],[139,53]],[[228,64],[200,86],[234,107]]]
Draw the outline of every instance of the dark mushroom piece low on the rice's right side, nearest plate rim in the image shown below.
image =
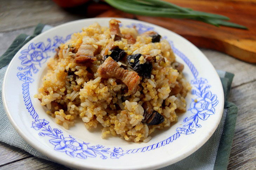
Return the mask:
[[142,123],[147,123],[147,125],[159,125],[160,123],[163,123],[164,117],[153,110],[153,106],[149,101],[144,102],[142,107],[144,108],[144,119],[142,120]]

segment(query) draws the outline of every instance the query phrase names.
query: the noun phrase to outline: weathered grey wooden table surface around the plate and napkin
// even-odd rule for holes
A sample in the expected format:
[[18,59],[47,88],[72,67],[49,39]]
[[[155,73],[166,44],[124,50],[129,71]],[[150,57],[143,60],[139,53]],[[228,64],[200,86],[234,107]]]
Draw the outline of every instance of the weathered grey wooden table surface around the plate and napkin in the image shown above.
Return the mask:
[[[21,33],[32,34],[39,22],[59,25],[91,17],[83,5],[81,10],[63,10],[50,0],[0,0],[0,55]],[[230,101],[238,107],[235,136],[228,169],[256,169],[256,65],[208,49],[201,49],[216,69],[235,74]],[[0,169],[69,169],[46,161],[0,142]]]

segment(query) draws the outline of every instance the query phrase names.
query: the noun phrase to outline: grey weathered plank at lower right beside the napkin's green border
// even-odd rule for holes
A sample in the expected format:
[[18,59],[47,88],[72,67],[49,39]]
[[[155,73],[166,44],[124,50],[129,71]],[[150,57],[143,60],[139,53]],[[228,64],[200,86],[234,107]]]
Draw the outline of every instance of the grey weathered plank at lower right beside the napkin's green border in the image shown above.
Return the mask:
[[230,100],[238,107],[228,169],[256,165],[256,81],[231,90]]

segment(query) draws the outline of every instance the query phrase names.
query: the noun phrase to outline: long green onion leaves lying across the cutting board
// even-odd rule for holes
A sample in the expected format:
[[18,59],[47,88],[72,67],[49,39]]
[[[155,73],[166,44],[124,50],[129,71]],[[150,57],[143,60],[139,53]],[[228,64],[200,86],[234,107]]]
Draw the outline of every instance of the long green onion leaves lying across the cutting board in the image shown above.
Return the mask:
[[127,13],[145,16],[170,17],[178,19],[192,19],[202,21],[219,27],[227,26],[240,29],[247,27],[224,21],[229,20],[227,16],[196,11],[190,8],[183,8],[173,3],[161,0],[105,0],[109,5]]

